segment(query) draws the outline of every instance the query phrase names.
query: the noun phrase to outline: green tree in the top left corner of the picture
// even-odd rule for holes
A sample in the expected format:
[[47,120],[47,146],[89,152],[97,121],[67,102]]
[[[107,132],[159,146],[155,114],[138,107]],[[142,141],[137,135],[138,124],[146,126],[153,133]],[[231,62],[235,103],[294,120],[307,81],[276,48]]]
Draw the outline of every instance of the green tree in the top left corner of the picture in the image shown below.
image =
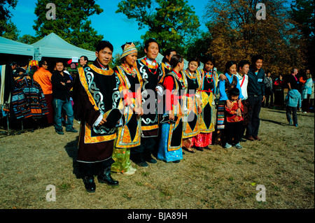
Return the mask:
[[12,17],[10,9],[14,9],[17,3],[17,0],[0,0],[0,36],[14,41],[18,40],[20,31],[10,20]]

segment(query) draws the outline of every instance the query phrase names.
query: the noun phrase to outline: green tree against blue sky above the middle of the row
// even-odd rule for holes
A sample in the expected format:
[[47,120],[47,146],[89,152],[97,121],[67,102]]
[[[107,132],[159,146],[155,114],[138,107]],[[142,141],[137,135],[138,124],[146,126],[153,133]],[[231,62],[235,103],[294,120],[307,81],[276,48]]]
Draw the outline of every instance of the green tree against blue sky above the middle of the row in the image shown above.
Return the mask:
[[141,38],[155,38],[160,50],[175,48],[186,55],[186,45],[198,34],[200,23],[193,6],[185,0],[124,0],[116,13],[136,20],[139,29],[148,29]]

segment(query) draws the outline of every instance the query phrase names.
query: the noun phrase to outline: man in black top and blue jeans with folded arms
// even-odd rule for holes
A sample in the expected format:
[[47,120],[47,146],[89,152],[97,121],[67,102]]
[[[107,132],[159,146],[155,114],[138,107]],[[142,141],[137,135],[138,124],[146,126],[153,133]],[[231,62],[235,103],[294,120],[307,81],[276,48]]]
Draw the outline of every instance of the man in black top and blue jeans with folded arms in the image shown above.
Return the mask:
[[52,105],[55,109],[55,131],[59,135],[63,135],[62,131],[62,108],[65,111],[66,131],[78,132],[73,128],[73,110],[70,101],[70,89],[73,85],[68,74],[64,73],[64,63],[57,61],[55,64],[56,70],[52,73]]

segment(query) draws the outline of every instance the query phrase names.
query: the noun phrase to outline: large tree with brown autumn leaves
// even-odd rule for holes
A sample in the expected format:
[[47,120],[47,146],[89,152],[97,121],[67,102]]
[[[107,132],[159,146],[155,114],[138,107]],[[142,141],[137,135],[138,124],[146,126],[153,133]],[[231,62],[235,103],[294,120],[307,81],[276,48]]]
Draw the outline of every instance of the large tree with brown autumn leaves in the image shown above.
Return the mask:
[[[266,19],[256,16],[259,2],[265,3]],[[304,38],[290,19],[289,8],[281,0],[214,0],[207,5],[206,17],[211,47],[224,71],[229,60],[264,57],[264,67],[272,73],[288,73],[305,62]]]

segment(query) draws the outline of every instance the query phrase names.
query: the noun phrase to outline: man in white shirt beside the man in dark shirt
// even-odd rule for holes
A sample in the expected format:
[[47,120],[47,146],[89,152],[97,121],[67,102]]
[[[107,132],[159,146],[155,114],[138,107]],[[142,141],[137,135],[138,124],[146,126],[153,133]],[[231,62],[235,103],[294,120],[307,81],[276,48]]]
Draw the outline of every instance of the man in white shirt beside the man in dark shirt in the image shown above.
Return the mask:
[[248,73],[249,71],[249,62],[247,60],[241,60],[239,64],[237,65],[237,78],[239,78],[239,85],[241,86],[241,94],[244,96],[241,99],[241,102],[244,105],[244,112],[242,113],[243,116],[243,124],[241,126],[241,129],[239,130],[239,138],[241,142],[246,142],[244,139],[244,132],[246,129],[246,126],[248,124],[248,94],[247,94],[247,84],[248,84]]

